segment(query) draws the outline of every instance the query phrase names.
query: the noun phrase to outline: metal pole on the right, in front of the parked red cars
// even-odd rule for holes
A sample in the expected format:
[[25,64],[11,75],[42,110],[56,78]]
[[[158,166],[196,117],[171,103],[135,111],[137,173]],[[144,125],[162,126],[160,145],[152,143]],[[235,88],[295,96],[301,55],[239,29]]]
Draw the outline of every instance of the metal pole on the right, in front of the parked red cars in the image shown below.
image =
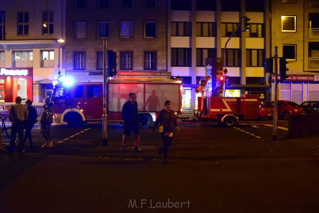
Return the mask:
[[272,140],[277,141],[278,135],[278,114],[277,114],[277,99],[278,99],[278,47],[275,46],[275,95],[274,95],[274,117],[273,117],[273,129],[272,129]]

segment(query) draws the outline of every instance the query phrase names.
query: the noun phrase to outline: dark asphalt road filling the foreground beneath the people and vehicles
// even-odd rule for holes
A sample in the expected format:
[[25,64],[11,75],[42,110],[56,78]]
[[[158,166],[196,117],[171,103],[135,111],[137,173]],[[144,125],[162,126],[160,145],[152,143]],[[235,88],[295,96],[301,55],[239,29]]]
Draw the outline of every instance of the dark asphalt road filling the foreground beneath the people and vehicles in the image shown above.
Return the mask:
[[159,135],[149,130],[141,131],[145,153],[133,151],[133,137],[119,153],[118,125],[108,127],[106,147],[99,125],[54,125],[53,148],[40,147],[36,126],[34,148],[0,154],[1,211],[318,212],[319,137],[286,140],[278,129],[271,141],[271,121],[263,122],[180,122],[170,164],[162,163]]

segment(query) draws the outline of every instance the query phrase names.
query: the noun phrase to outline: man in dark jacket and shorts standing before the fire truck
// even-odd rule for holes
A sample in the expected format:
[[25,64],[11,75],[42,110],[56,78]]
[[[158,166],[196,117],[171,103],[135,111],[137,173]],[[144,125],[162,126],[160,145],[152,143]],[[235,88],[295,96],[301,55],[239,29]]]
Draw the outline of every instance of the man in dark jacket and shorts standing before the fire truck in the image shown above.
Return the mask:
[[143,152],[143,150],[138,148],[140,134],[136,95],[134,93],[130,93],[129,96],[130,100],[124,103],[122,108],[122,119],[125,125],[121,152],[125,152],[125,143],[127,141],[127,137],[130,136],[131,131],[133,131],[133,133],[135,134],[135,152],[141,153]]

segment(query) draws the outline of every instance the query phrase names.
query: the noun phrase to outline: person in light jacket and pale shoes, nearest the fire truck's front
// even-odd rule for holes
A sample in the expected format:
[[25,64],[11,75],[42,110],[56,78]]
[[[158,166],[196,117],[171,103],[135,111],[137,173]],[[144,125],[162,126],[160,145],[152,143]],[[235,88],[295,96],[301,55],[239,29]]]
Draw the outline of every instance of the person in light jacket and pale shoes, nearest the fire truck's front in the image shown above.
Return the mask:
[[53,103],[50,103],[50,99],[45,99],[45,104],[42,107],[42,113],[40,118],[40,133],[45,138],[46,143],[41,147],[53,147],[53,141],[50,139],[50,128],[53,123],[54,108]]

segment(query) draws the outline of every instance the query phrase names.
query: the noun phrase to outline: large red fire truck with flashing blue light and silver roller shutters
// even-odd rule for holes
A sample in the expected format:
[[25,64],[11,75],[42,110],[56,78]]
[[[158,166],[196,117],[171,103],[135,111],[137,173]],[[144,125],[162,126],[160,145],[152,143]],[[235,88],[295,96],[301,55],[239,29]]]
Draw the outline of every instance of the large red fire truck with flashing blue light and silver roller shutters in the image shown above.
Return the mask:
[[[137,96],[141,128],[147,128],[155,121],[166,100],[172,102],[171,109],[176,115],[182,113],[182,80],[171,79],[170,72],[117,72],[107,80],[108,122],[122,121],[122,106],[131,92]],[[102,82],[56,84],[52,100],[56,123],[79,126],[102,121]]]

